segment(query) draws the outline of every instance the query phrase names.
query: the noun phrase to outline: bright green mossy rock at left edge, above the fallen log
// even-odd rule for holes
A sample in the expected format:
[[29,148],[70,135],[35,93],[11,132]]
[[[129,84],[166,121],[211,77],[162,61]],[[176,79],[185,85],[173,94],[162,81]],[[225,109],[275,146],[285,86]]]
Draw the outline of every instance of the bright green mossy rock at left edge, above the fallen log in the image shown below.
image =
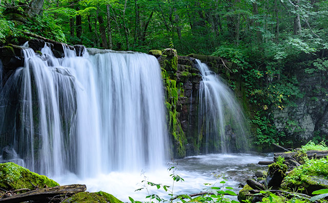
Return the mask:
[[22,188],[35,190],[33,185],[39,188],[59,186],[54,180],[44,175],[33,173],[12,162],[0,164],[0,188],[5,190],[17,190]]

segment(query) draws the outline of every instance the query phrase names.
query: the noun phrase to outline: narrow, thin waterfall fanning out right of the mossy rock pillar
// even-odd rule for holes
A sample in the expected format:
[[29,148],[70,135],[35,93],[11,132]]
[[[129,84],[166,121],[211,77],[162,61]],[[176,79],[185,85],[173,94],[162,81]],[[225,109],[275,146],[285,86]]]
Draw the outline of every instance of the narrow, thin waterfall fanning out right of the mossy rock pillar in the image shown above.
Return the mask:
[[199,134],[204,152],[236,152],[248,149],[248,125],[231,89],[206,64],[196,59],[202,76],[199,90]]

